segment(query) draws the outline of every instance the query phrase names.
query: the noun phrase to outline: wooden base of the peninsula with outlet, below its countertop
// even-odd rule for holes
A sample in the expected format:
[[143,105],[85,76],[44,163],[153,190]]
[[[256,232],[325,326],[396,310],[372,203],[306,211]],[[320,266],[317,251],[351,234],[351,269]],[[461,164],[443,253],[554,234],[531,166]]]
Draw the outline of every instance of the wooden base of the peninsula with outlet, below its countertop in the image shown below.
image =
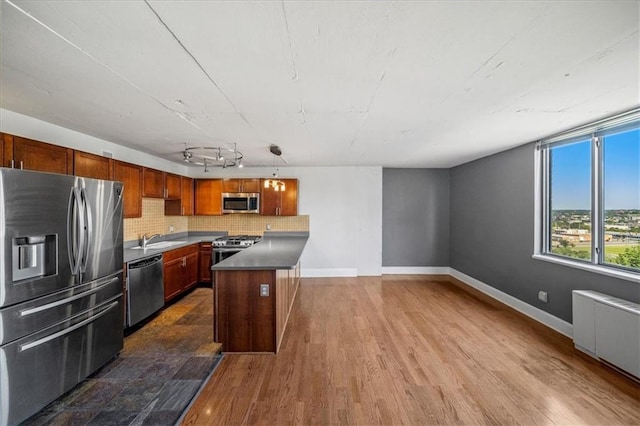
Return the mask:
[[214,340],[225,352],[277,353],[298,290],[295,270],[215,273]]

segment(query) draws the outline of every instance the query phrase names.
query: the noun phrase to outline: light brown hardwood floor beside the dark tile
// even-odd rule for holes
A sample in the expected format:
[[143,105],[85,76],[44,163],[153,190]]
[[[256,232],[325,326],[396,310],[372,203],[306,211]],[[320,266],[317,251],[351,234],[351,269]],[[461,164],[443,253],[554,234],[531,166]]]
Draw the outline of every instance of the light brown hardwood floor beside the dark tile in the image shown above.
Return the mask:
[[225,355],[183,424],[640,424],[637,383],[440,278],[303,279],[280,353]]

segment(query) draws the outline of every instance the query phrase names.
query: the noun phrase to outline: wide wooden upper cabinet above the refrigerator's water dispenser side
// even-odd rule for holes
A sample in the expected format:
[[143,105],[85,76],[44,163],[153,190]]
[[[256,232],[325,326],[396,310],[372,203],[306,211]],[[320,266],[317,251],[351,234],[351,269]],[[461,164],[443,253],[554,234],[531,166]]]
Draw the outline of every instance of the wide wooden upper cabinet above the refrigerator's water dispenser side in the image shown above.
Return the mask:
[[[73,150],[58,145],[13,136],[13,157],[5,158],[8,167],[41,172],[73,174]],[[5,139],[5,145],[7,140]],[[8,147],[4,147],[7,150]]]

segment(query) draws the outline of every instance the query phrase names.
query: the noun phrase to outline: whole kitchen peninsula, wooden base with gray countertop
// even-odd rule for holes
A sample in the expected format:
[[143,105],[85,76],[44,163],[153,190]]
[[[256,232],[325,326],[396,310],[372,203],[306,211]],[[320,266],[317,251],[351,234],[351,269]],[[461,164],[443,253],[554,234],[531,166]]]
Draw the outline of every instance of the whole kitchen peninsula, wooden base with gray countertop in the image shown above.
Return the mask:
[[224,352],[277,353],[300,284],[307,232],[266,232],[211,267],[214,340]]

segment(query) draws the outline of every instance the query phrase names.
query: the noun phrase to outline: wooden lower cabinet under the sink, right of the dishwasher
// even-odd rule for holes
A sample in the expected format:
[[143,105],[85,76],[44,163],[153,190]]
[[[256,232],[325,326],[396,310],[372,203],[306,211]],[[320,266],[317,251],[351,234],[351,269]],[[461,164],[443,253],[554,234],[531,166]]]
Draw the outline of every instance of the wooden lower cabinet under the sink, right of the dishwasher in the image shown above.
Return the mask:
[[198,251],[199,245],[192,244],[162,255],[165,302],[198,283]]

